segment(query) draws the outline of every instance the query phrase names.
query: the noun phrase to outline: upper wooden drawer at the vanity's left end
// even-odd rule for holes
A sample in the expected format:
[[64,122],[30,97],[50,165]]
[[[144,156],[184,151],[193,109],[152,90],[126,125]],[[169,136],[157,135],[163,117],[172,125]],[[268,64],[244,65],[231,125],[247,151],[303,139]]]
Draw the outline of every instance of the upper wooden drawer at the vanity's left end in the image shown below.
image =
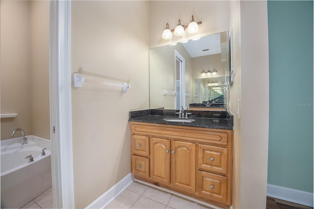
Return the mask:
[[149,156],[149,137],[141,135],[131,136],[132,154]]

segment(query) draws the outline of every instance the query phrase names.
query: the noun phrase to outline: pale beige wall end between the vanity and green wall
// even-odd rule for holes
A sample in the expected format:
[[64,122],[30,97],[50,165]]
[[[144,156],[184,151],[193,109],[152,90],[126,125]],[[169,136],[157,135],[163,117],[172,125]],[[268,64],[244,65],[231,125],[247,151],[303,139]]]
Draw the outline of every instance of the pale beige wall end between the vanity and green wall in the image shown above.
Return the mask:
[[[268,157],[267,1],[231,1],[234,113],[234,208],[265,208]],[[240,119],[237,100],[240,99]]]

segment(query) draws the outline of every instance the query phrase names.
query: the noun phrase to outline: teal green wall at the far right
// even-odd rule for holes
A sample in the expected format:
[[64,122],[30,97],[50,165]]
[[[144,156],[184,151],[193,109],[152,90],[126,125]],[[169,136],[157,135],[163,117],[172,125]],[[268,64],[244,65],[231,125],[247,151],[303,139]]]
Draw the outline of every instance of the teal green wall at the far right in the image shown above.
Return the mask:
[[267,183],[313,193],[313,1],[267,7]]

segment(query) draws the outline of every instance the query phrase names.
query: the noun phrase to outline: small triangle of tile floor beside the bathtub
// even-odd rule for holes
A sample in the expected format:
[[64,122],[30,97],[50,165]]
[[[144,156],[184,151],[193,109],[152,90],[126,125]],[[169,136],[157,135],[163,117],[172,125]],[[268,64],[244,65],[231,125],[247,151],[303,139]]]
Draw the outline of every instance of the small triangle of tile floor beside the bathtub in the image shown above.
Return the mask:
[[22,209],[52,209],[52,187],[27,203]]

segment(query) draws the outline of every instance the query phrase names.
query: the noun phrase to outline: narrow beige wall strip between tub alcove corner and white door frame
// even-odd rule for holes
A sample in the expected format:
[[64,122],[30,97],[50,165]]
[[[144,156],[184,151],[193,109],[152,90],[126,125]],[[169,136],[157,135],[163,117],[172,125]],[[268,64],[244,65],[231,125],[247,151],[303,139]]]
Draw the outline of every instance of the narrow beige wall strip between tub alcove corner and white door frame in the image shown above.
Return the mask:
[[31,134],[50,139],[49,1],[31,1]]

